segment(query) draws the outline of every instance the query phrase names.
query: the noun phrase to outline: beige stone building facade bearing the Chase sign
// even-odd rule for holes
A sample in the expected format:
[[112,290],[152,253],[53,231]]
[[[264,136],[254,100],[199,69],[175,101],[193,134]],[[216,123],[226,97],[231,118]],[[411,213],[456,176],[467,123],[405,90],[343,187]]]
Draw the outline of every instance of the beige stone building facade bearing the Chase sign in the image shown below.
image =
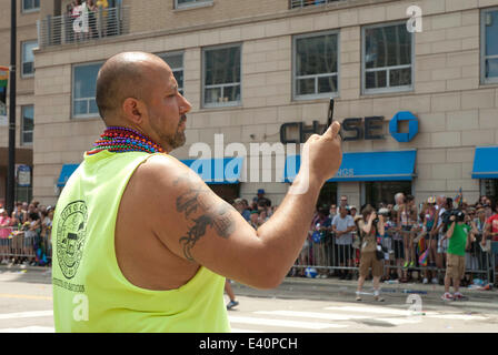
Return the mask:
[[[308,130],[313,121],[325,124],[329,98],[333,97],[335,119],[358,119],[345,136],[355,138],[357,129],[362,133],[343,143],[345,153],[415,151],[416,160],[408,180],[379,174],[377,180],[370,175],[363,181],[356,176],[327,183],[320,203],[336,203],[342,194],[356,205],[392,203],[384,200],[400,190],[414,194],[418,203],[429,195],[455,196],[460,187],[470,203],[480,194],[497,193],[496,180],[472,179],[472,169],[476,148],[498,145],[495,57],[484,51],[486,39],[495,36],[494,24],[488,23],[498,13],[498,0],[296,3],[212,0],[187,1],[185,6],[178,0],[123,0],[126,23],[117,36],[60,44],[49,40],[40,45],[34,51],[33,83],[27,82],[26,97],[18,98],[20,105],[34,104],[34,199],[56,203],[63,165],[79,164],[102,133],[104,125],[87,88],[91,80],[80,81],[96,75],[103,61],[123,51],[163,54],[175,62],[173,70],[181,72],[180,87],[192,111],[187,143],[172,152],[180,160],[197,158],[190,152],[196,143],[213,148],[215,134],[222,134],[225,145],[242,143],[247,152],[251,143],[279,143],[282,124],[302,122]],[[406,31],[407,9],[412,4],[422,11],[421,32],[402,34],[399,31]],[[63,12],[63,1],[54,2],[51,10],[58,6]],[[40,33],[43,37],[43,31]],[[494,38],[498,40],[498,34]],[[405,53],[395,54],[398,62],[385,58],[387,67],[375,64],[386,53],[396,53],[397,45]],[[312,63],[317,58],[313,48],[325,48],[321,58],[333,58],[332,64],[325,65],[326,72],[312,72],[323,67]],[[237,62],[228,61],[237,73],[231,81],[212,83],[209,78],[218,75],[216,60],[225,60],[222,55]],[[398,142],[389,133],[389,122],[402,111],[411,112],[418,122],[418,133],[407,142]],[[384,118],[374,126],[374,135],[381,138],[366,139],[365,118],[372,116]],[[298,125],[290,125],[287,136],[296,138]],[[398,131],[408,129],[409,124],[401,122]],[[6,146],[2,139],[0,144]],[[249,153],[245,160],[249,181],[233,184],[232,190],[218,186],[218,191],[227,193],[227,199],[239,195],[250,201],[258,189],[265,189],[273,204],[280,203],[289,186],[281,182],[285,163],[275,158],[271,168],[256,166],[250,158]],[[255,170],[260,173],[259,181],[249,179]],[[271,171],[271,181],[262,181],[265,170]]]

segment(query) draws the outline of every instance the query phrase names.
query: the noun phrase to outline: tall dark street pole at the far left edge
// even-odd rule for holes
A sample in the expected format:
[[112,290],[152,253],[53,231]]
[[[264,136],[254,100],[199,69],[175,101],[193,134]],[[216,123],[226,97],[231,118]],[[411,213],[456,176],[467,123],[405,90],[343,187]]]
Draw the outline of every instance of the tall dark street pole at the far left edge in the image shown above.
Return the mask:
[[17,59],[17,0],[11,0],[10,8],[10,97],[9,97],[9,168],[7,169],[6,207],[9,215],[13,211],[16,189],[16,59]]

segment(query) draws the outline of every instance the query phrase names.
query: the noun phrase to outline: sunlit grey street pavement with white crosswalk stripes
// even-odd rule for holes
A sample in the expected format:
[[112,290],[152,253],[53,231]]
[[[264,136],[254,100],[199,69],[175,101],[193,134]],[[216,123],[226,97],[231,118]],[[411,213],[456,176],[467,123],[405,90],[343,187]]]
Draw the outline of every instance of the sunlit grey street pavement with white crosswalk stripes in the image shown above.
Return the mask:
[[[498,332],[497,291],[464,290],[468,301],[448,303],[439,285],[382,284],[386,302],[379,303],[371,282],[362,302],[355,301],[355,282],[337,278],[286,278],[270,291],[238,283],[232,288],[240,302],[229,312],[235,333]],[[50,270],[1,267],[0,304],[0,333],[53,332]]]

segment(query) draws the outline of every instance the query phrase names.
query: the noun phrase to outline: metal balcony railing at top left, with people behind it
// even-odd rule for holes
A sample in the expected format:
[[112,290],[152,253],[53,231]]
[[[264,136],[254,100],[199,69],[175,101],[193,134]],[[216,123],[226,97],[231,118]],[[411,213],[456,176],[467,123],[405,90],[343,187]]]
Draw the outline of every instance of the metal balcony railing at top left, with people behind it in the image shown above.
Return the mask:
[[51,17],[38,21],[40,49],[87,42],[130,31],[130,7],[117,7],[76,14]]

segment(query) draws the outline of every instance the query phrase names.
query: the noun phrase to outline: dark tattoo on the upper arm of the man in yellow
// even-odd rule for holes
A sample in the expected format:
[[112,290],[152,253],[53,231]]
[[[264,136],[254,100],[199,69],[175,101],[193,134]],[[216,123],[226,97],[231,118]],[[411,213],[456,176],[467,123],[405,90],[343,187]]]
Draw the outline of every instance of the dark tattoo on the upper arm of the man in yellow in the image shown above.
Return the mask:
[[191,250],[196,243],[206,234],[208,227],[215,229],[222,239],[228,239],[235,231],[235,223],[230,215],[233,207],[226,202],[213,204],[207,201],[210,193],[205,186],[198,187],[188,176],[179,178],[175,185],[187,183],[188,190],[177,197],[176,207],[180,213],[193,222],[187,231],[187,235],[180,237],[183,255],[193,261]]

